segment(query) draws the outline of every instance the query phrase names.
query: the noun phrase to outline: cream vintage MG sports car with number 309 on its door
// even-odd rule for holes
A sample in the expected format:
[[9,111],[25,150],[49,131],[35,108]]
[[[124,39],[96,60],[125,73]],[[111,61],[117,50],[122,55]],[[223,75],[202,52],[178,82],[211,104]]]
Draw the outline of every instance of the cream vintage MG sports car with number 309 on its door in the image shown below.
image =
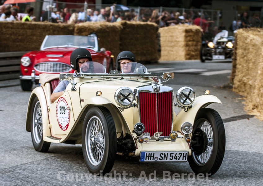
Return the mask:
[[[188,161],[196,174],[213,175],[220,168],[224,124],[215,110],[206,107],[221,101],[208,90],[195,97],[185,86],[174,95],[171,87],[161,84],[174,73],[151,74],[135,62],[129,73],[106,73],[97,62],[82,65],[75,76],[40,74],[26,117],[35,150],[47,152],[51,143],[82,144],[91,173],[109,173],[116,154],[140,162]],[[69,85],[51,103],[58,76]],[[182,110],[176,114],[174,107]]]

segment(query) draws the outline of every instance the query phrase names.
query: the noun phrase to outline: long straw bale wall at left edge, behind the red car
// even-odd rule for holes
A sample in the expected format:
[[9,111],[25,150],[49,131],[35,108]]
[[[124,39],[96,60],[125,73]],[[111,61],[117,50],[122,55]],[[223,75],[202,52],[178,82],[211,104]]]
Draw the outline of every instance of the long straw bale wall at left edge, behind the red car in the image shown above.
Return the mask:
[[46,35],[73,35],[74,25],[0,21],[0,52],[39,50]]

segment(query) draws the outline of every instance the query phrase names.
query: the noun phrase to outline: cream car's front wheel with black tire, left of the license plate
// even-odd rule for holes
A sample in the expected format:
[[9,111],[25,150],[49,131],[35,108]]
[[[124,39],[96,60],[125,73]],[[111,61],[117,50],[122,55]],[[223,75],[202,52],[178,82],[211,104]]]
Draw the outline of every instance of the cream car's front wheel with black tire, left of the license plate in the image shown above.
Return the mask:
[[82,151],[88,170],[103,175],[109,173],[114,165],[116,149],[116,128],[109,110],[91,108],[82,128]]

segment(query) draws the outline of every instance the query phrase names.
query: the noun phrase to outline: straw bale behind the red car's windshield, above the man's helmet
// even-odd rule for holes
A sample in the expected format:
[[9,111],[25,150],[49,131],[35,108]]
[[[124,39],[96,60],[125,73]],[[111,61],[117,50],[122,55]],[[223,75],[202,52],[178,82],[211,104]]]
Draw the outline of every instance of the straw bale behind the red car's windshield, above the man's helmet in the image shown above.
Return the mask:
[[114,56],[120,51],[120,31],[122,26],[108,22],[85,22],[75,24],[75,35],[88,35],[95,32],[98,36],[99,47],[104,47]]

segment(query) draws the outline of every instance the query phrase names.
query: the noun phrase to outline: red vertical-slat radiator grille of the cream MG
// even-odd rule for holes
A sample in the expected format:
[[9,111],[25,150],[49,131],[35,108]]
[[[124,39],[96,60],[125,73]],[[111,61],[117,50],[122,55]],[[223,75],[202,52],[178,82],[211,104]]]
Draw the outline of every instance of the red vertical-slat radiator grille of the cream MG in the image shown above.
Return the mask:
[[145,125],[145,132],[150,136],[163,132],[169,136],[172,129],[173,97],[169,92],[140,92],[140,120]]

